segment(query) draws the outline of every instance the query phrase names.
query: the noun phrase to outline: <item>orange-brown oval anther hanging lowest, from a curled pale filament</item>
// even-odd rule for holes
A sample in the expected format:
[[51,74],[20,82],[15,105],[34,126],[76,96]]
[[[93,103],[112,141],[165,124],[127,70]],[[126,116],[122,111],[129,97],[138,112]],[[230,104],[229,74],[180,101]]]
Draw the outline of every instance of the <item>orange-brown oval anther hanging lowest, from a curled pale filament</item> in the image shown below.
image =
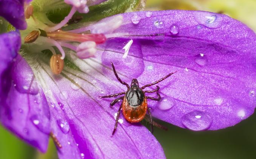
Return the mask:
[[58,75],[62,72],[64,67],[64,60],[61,59],[61,55],[52,55],[50,59],[50,67],[52,70],[52,73]]

